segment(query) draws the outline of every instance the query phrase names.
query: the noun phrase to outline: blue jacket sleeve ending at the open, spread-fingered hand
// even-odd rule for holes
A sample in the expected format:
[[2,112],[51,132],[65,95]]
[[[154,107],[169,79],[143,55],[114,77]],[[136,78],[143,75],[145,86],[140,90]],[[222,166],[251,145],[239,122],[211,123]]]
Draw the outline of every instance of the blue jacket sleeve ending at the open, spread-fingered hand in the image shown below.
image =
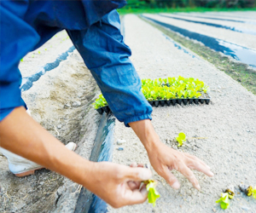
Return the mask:
[[129,60],[131,49],[120,33],[113,10],[83,31],[67,31],[119,121],[151,119],[152,107],[141,92],[141,80]]

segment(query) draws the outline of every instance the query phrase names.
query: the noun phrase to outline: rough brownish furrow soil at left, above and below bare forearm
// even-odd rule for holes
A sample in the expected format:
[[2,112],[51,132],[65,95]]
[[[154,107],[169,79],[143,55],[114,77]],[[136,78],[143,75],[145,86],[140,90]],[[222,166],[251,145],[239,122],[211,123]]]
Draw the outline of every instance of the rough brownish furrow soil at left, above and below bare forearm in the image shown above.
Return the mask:
[[[54,46],[55,40],[50,40],[46,46],[51,43]],[[42,60],[42,65],[51,62],[46,56],[42,56]],[[21,72],[31,75],[26,68],[32,70],[34,63],[38,61],[32,63],[24,58]],[[75,152],[90,158],[101,118],[91,106],[98,93],[94,78],[74,50],[60,66],[46,72],[31,89],[23,92],[22,97],[32,118],[64,144],[77,143]],[[34,176],[15,177],[2,154],[0,166],[0,212],[73,212],[81,189],[78,184],[49,170],[38,170]]]

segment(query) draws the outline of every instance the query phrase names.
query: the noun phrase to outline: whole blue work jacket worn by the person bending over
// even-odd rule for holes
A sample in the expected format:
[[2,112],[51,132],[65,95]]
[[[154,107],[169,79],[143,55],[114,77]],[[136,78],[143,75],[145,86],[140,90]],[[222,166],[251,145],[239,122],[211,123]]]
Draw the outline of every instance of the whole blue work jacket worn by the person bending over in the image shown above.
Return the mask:
[[20,59],[65,29],[119,121],[151,119],[115,9],[125,0],[1,1],[0,121],[21,99]]

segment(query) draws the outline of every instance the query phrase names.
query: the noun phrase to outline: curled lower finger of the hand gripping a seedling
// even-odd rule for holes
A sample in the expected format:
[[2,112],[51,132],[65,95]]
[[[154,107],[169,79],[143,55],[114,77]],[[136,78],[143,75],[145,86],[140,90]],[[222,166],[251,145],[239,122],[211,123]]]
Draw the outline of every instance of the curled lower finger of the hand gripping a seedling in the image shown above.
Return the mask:
[[141,190],[127,191],[125,193],[125,199],[127,204],[142,204],[148,199],[148,191],[145,186]]

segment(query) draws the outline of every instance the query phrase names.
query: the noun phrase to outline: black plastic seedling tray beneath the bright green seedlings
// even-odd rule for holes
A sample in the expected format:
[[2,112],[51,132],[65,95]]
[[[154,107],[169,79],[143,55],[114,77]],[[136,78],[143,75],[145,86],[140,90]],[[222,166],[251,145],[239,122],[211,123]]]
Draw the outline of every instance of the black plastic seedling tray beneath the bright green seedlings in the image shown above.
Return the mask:
[[[208,93],[202,93],[201,92],[201,96],[199,98],[186,98],[186,99],[171,99],[171,100],[157,100],[157,101],[148,101],[148,103],[152,106],[152,107],[165,107],[165,106],[175,106],[176,104],[181,105],[182,103],[184,105],[189,105],[192,103],[195,103],[196,105],[198,105],[199,103],[204,104],[206,103],[207,105],[210,103],[211,101],[211,97]],[[105,107],[101,107],[96,109],[97,112],[99,112],[101,115],[103,112],[111,112],[110,108],[108,106]]]

